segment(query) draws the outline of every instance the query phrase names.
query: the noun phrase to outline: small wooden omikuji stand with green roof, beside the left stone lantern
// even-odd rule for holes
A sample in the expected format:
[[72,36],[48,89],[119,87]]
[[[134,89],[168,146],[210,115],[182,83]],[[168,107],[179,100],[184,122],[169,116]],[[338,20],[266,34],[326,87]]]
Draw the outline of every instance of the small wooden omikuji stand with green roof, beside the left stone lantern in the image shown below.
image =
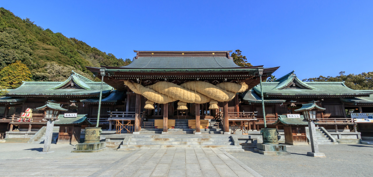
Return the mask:
[[71,115],[74,117],[65,117],[64,114],[60,114],[58,116],[59,121],[55,122],[55,124],[60,127],[57,144],[80,143],[82,125],[93,125],[93,123],[87,119],[87,114]]

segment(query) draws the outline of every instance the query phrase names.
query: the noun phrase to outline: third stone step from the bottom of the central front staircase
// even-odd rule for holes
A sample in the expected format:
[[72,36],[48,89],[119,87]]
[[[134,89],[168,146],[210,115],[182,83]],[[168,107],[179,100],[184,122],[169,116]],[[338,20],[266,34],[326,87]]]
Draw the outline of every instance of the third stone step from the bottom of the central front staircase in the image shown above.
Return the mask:
[[232,141],[231,138],[137,138],[131,141]]

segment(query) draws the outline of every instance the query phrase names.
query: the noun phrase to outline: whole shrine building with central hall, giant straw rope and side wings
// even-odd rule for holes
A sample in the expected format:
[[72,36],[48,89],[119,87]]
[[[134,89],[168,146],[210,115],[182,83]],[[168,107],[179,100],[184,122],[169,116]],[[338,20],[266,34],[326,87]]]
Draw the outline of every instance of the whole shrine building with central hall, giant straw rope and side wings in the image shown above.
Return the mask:
[[[294,71],[275,82],[264,82],[279,67],[240,67],[230,57],[232,50],[134,52],[136,56],[127,66],[87,67],[98,78],[103,76],[98,123],[108,147],[131,149],[156,144],[149,142],[151,138],[147,142],[133,138],[136,142],[125,144],[118,138],[121,133],[182,133],[222,134],[225,138],[240,135],[235,142],[234,138],[224,142],[224,148],[252,148],[261,141],[263,112],[267,127],[280,131],[280,142],[307,144],[307,125],[300,120],[303,115],[294,110],[310,102],[326,108],[317,112],[319,144],[360,143],[362,135],[373,137],[373,120],[360,123],[354,119],[354,113],[373,112],[373,91],[352,90],[344,82],[303,82]],[[9,142],[35,138],[46,125],[43,112],[35,108],[49,101],[68,109],[60,113],[66,125],[57,127],[56,134],[63,142],[72,141],[69,138],[82,142],[84,136],[79,136],[84,134],[83,128],[97,122],[100,85],[75,72],[64,82],[24,82],[0,99],[0,133]],[[27,108],[32,109],[32,119],[23,120],[21,113]],[[78,114],[79,123],[69,122],[71,118],[65,118],[65,113]],[[82,128],[82,132],[74,133],[74,137],[68,133],[69,126],[75,131]],[[62,138],[66,135],[70,136]],[[213,148],[211,144],[209,147]]]

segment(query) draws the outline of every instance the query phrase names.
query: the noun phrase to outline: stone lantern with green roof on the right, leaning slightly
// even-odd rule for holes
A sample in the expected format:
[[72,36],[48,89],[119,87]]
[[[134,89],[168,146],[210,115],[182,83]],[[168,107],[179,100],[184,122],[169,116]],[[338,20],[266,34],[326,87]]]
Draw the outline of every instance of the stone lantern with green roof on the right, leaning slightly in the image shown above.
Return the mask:
[[319,152],[319,144],[317,143],[317,135],[315,128],[315,122],[319,121],[319,119],[317,119],[316,117],[317,110],[323,111],[325,110],[325,108],[321,108],[316,105],[316,102],[312,102],[308,104],[303,104],[302,108],[296,109],[295,112],[302,112],[304,121],[308,122],[312,152],[308,152],[307,155],[312,157],[325,157],[324,153]]

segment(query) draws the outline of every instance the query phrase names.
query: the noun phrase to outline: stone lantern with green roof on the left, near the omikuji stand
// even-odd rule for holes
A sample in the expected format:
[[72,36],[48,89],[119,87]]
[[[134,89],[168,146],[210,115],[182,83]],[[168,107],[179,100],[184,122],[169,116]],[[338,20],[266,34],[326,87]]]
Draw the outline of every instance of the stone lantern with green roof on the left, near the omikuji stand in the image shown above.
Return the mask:
[[68,111],[68,109],[61,108],[59,103],[52,103],[49,101],[47,101],[46,105],[36,109],[44,111],[43,121],[47,121],[43,152],[39,152],[38,154],[53,153],[54,151],[49,151],[49,149],[52,142],[54,121],[59,121],[57,117],[60,111]]

